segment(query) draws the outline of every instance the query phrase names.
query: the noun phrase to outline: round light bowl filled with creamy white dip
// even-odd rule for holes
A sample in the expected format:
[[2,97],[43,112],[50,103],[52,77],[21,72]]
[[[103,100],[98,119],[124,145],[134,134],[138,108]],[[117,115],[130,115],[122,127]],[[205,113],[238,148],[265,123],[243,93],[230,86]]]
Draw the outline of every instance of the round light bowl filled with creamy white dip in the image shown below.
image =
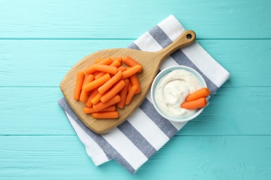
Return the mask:
[[171,66],[164,69],[151,84],[151,99],[161,116],[174,122],[192,120],[202,113],[200,109],[183,109],[186,97],[206,86],[202,75],[188,66]]

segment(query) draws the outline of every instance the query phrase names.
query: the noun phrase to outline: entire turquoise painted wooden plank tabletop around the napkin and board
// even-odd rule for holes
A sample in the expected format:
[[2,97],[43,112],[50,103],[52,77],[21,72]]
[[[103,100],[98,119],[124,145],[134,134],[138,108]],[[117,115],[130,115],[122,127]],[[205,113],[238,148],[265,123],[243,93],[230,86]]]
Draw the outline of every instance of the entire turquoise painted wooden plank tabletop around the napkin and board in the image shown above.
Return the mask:
[[[131,176],[95,167],[57,100],[82,57],[168,15],[230,73],[197,119]],[[0,179],[271,179],[271,1],[0,0]]]

